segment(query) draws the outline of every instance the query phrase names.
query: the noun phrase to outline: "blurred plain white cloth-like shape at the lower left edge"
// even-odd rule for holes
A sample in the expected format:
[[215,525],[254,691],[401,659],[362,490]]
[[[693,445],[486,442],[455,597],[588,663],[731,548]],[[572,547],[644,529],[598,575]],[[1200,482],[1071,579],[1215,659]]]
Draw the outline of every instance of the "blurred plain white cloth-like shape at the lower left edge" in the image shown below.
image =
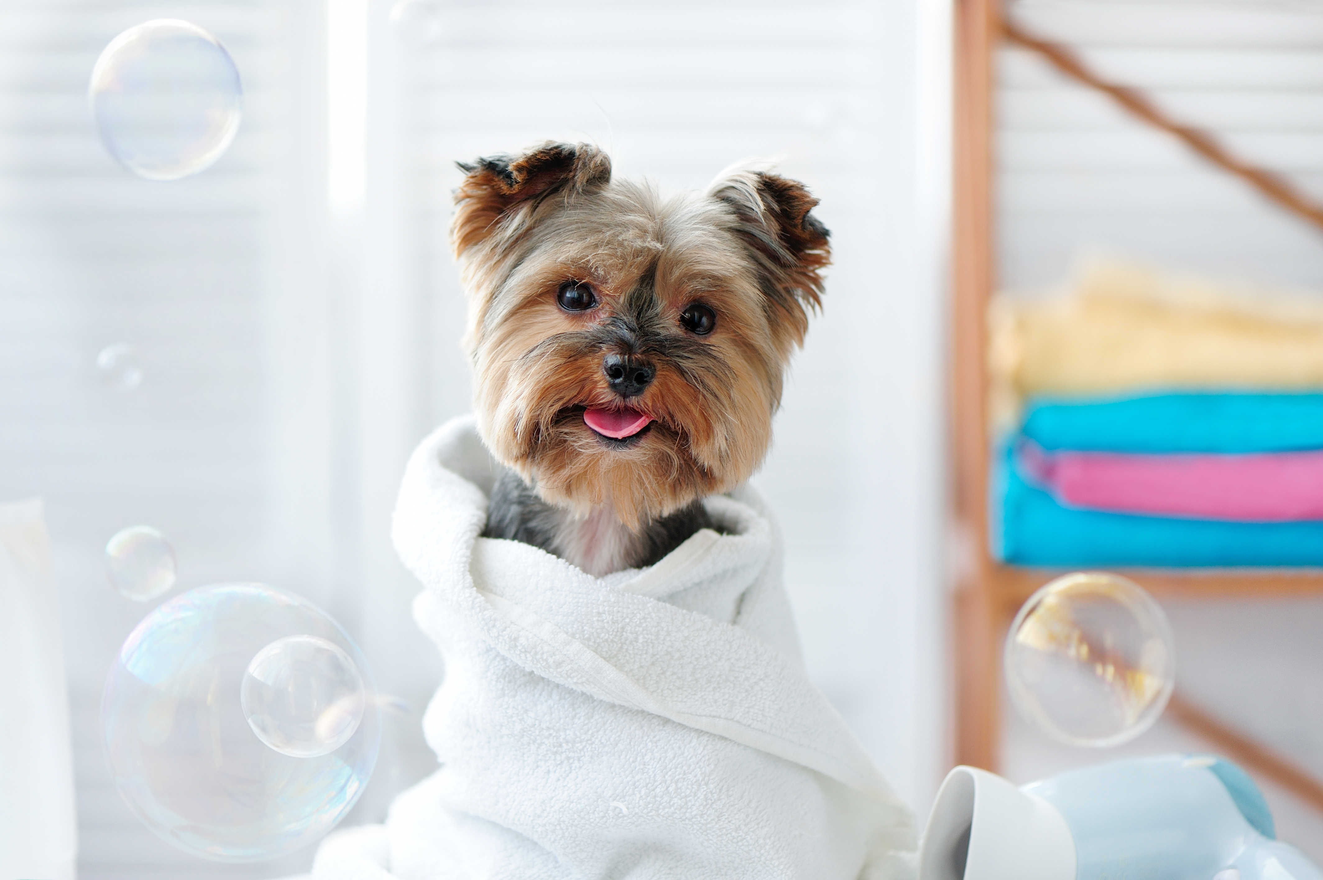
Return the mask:
[[69,689],[41,500],[0,504],[0,877],[73,880]]

